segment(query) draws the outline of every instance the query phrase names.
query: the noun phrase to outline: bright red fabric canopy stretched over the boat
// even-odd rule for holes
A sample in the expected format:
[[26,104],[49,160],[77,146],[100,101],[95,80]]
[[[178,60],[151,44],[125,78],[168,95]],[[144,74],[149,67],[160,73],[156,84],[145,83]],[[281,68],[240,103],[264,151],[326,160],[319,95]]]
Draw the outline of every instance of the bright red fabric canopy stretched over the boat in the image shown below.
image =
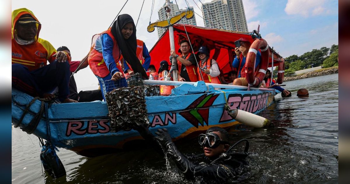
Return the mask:
[[[197,52],[198,48],[206,46],[210,50],[210,57],[217,61],[223,73],[228,73],[232,70],[231,64],[235,56],[235,41],[242,37],[251,42],[254,41],[252,36],[246,33],[236,33],[228,30],[210,29],[183,24],[175,24],[173,27],[176,53],[179,51],[180,42],[184,39],[188,40],[185,32],[186,27],[193,50]],[[151,64],[155,66],[156,70],[158,70],[161,61],[166,60],[170,63],[169,30],[161,36],[149,54],[151,55]],[[178,54],[180,55],[180,53]],[[274,54],[273,66],[278,66],[278,58],[279,56]],[[271,67],[271,61],[270,52],[269,67]]]

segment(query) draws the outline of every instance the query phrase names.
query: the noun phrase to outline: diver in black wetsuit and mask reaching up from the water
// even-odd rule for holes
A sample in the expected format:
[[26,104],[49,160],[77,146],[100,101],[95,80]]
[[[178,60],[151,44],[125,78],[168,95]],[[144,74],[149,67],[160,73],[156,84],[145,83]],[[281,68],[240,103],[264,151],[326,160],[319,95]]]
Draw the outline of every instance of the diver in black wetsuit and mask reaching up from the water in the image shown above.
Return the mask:
[[[161,154],[165,154],[169,159],[176,163],[177,168],[188,179],[196,179],[201,183],[225,183],[229,179],[237,178],[240,175],[242,166],[247,163],[245,161],[249,147],[246,139],[245,150],[243,152],[230,152],[237,145],[229,145],[228,132],[220,127],[211,127],[198,137],[199,144],[203,146],[204,155],[188,157],[182,154],[172,142],[172,138],[165,128],[158,129],[153,136],[147,127],[139,126],[135,128],[140,132],[141,136],[156,146],[159,151],[159,145],[162,147]],[[158,147],[158,148],[157,148]],[[159,151],[160,152],[160,151]]]

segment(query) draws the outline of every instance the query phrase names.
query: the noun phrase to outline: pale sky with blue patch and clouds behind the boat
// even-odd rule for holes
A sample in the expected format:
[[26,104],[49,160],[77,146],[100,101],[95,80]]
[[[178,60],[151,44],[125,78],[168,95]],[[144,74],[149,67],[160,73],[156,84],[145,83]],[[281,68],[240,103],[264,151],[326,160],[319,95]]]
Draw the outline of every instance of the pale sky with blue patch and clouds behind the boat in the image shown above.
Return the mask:
[[[94,34],[106,30],[126,0],[13,0],[12,10],[28,8],[42,24],[39,37],[55,48],[67,46],[72,61],[81,60],[89,52]],[[179,9],[187,8],[185,0],[176,0]],[[202,3],[211,0],[201,0]],[[137,22],[143,0],[129,0],[120,14],[130,14]],[[187,0],[202,16],[199,0]],[[165,0],[145,0],[137,25],[137,38],[150,50],[158,40],[155,30],[147,32],[149,22],[158,19]],[[173,3],[176,4],[175,0]],[[301,55],[312,49],[338,44],[337,0],[243,0],[248,30],[257,29],[271,47],[283,57]],[[2,11],[0,11],[2,12]],[[0,13],[1,14],[1,13]],[[198,26],[204,20],[195,14]],[[98,88],[97,78],[89,67],[74,75],[78,91]]]

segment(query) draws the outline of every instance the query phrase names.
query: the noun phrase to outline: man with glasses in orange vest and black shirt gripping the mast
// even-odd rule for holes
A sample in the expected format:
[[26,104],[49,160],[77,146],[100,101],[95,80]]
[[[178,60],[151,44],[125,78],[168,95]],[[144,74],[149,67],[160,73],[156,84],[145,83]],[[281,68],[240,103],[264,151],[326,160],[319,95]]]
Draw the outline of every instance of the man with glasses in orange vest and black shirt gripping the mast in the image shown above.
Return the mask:
[[179,81],[187,81],[187,82],[197,82],[198,74],[197,74],[197,63],[195,59],[195,55],[190,53],[190,43],[187,40],[182,40],[180,42],[180,49],[182,54],[178,55],[174,50],[170,50],[170,62],[172,58],[175,57],[177,60],[177,66],[172,65],[166,80],[170,80],[170,76],[172,71],[178,70],[180,73]]

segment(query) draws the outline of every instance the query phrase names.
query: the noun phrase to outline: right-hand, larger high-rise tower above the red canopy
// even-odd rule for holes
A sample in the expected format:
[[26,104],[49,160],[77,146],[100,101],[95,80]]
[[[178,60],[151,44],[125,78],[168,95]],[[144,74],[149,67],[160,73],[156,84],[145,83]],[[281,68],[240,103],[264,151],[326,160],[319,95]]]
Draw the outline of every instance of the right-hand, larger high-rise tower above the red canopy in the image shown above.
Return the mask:
[[204,3],[202,13],[205,27],[248,32],[242,0],[214,0]]

